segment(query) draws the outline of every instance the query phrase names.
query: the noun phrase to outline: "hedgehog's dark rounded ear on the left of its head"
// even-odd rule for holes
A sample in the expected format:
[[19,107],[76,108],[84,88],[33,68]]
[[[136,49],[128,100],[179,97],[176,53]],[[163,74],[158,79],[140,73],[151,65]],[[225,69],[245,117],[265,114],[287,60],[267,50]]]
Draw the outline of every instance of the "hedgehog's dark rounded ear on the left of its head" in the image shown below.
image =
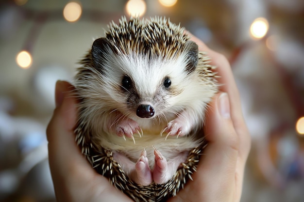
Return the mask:
[[103,37],[96,39],[92,45],[91,54],[95,68],[101,68],[101,64],[106,62],[106,55],[114,52],[110,41]]

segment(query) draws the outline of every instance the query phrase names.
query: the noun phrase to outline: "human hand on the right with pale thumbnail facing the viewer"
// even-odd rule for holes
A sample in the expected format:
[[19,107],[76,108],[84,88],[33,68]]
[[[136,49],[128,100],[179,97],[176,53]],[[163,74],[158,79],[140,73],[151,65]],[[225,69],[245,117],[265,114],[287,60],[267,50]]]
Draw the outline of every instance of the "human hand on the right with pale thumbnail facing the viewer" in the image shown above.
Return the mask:
[[[188,33],[190,36],[191,34]],[[244,122],[240,98],[227,59],[191,36],[199,50],[217,66],[220,93],[210,103],[204,124],[208,141],[193,181],[168,202],[239,202],[251,137]]]

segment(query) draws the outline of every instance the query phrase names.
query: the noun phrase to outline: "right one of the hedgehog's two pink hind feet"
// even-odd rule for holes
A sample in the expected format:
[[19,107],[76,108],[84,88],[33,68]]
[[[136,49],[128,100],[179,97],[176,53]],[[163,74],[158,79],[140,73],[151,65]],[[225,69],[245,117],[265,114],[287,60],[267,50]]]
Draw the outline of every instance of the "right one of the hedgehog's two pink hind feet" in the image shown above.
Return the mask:
[[166,158],[154,148],[155,164],[153,169],[153,181],[156,184],[164,184],[172,177],[169,173],[168,162]]

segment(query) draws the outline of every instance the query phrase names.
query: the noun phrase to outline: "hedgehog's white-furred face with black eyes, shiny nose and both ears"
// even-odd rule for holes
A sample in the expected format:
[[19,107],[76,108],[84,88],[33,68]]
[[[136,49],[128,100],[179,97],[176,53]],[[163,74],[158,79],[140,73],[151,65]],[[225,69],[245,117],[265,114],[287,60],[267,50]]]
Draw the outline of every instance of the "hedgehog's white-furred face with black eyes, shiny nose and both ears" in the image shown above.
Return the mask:
[[[174,57],[153,52],[129,51],[116,48],[107,38],[97,39],[91,54],[94,67],[102,75],[112,103],[124,115],[135,120],[168,117],[182,110],[176,100],[191,85],[191,73],[198,62],[198,46],[191,41],[176,48]],[[152,47],[153,48],[153,47]],[[108,82],[106,82],[107,80]]]

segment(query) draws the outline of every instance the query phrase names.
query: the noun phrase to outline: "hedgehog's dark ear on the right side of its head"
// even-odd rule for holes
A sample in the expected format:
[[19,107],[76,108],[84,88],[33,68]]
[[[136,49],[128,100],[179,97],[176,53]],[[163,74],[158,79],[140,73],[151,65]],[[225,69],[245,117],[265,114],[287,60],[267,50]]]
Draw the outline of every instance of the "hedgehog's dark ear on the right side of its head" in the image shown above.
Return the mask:
[[197,66],[199,61],[199,47],[193,41],[186,42],[186,51],[187,53],[187,65],[186,65],[186,72],[190,74],[193,72]]

